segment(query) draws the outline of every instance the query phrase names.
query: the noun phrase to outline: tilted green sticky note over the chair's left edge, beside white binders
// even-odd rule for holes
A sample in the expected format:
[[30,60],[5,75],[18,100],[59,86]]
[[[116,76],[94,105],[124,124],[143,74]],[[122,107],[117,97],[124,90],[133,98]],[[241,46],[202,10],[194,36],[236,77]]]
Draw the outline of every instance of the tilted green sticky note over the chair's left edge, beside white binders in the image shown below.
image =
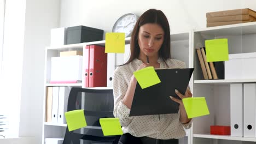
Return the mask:
[[65,112],[68,131],[86,127],[84,110],[74,110]]

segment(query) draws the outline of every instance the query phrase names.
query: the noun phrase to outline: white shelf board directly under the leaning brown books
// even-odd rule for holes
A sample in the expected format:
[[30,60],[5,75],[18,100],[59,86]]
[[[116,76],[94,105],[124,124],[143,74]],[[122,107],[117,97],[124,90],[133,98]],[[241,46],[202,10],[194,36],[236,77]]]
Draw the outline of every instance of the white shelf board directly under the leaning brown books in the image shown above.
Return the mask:
[[194,83],[206,84],[228,84],[228,83],[246,83],[256,82],[256,79],[230,79],[230,80],[195,80]]

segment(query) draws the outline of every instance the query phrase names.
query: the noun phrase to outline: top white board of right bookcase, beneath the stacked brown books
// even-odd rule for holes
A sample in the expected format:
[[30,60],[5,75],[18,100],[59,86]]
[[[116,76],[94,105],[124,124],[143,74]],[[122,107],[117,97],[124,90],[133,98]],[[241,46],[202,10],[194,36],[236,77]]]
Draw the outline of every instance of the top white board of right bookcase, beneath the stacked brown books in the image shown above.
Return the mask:
[[247,23],[238,23],[234,25],[200,28],[200,29],[195,29],[194,32],[200,32],[201,34],[206,34],[206,35],[216,35],[216,37],[225,36],[225,35],[253,34],[253,33],[256,33],[256,22],[247,22]]

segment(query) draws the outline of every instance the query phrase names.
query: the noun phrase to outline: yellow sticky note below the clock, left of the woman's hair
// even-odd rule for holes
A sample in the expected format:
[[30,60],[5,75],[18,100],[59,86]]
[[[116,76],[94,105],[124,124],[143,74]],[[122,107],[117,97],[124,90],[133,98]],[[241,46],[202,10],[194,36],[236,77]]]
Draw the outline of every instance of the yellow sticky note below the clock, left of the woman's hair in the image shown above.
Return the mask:
[[124,53],[125,33],[106,33],[105,53]]

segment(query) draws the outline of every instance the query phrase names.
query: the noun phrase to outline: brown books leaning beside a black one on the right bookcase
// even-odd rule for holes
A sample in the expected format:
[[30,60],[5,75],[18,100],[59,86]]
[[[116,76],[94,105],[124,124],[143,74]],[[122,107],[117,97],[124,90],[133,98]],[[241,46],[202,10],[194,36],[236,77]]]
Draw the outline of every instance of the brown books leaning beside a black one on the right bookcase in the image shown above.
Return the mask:
[[224,62],[207,62],[205,47],[196,49],[197,57],[199,59],[203,78],[205,80],[225,79]]

